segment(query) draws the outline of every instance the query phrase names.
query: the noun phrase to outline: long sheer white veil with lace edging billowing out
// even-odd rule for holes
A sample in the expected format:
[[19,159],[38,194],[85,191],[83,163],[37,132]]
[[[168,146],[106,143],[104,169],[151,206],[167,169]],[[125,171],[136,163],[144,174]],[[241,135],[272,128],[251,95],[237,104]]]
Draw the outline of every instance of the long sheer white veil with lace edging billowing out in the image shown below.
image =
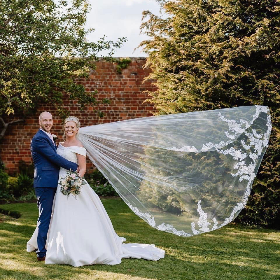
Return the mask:
[[81,127],[79,140],[136,215],[188,237],[245,207],[271,127],[267,106],[241,106]]

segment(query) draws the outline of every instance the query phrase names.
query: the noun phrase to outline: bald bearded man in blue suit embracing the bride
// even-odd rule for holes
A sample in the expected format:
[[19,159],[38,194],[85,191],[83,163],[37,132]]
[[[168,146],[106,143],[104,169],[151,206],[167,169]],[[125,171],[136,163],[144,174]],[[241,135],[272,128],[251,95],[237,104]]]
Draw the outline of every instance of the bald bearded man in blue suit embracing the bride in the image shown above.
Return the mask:
[[39,218],[37,222],[37,259],[46,258],[46,240],[53,208],[53,199],[57,189],[60,166],[65,169],[77,169],[78,165],[56,153],[56,145],[50,134],[53,116],[43,112],[39,116],[40,129],[31,140],[31,155],[34,162],[34,189],[37,197]]

